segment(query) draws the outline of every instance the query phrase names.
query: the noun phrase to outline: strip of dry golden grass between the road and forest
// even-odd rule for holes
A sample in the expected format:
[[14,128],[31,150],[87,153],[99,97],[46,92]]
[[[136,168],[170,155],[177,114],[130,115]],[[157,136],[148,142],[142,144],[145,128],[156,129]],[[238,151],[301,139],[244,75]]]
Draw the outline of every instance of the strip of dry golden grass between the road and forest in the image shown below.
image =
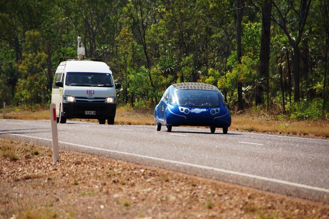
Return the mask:
[[[115,124],[154,125],[154,109],[135,109],[120,106],[116,110]],[[49,109],[39,108],[34,111],[12,108],[8,110],[6,119],[49,120]],[[97,120],[76,121],[98,122]],[[292,121],[284,116],[272,116],[262,112],[249,112],[232,115],[230,130],[266,132],[298,136],[329,138],[329,120]]]

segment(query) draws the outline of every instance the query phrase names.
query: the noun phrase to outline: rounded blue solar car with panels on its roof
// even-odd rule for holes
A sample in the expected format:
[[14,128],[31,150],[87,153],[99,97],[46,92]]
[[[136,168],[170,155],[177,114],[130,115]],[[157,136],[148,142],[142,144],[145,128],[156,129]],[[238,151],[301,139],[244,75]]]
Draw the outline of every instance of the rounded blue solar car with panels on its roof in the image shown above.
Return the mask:
[[222,128],[227,134],[231,114],[219,89],[205,83],[178,83],[169,86],[155,107],[157,130],[164,125],[170,132],[172,126],[210,126],[211,133]]

